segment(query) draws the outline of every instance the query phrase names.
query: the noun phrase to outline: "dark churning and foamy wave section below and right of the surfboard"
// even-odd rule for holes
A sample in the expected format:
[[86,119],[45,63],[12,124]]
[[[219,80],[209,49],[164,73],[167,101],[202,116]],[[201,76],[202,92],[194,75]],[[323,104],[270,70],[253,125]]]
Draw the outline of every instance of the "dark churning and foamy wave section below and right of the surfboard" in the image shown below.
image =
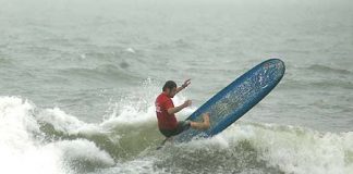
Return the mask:
[[[155,165],[198,173],[350,173],[353,133],[238,123],[211,139],[171,146]],[[168,154],[168,156],[166,156]]]

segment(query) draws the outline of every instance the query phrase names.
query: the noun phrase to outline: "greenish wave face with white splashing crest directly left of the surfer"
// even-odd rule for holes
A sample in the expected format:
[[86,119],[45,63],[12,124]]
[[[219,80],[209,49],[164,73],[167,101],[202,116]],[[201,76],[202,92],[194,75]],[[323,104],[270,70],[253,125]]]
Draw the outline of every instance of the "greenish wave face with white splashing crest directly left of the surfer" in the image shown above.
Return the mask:
[[[154,97],[148,97],[148,99]],[[135,158],[147,148],[156,147],[162,136],[157,129],[157,120],[153,102],[142,99],[125,98],[123,104],[113,103],[110,114],[101,123],[88,124],[59,108],[45,109],[36,115],[40,129],[48,141],[59,139],[83,138],[94,141],[107,151],[115,161],[126,161]],[[174,99],[176,104],[184,98]],[[186,117],[194,109],[182,111]]]

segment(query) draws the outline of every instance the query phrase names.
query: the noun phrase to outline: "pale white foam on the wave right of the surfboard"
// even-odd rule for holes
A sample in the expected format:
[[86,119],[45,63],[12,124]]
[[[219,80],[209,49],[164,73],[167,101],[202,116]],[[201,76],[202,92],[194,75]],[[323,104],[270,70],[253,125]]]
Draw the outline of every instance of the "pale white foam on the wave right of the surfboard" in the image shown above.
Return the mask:
[[222,135],[230,144],[248,140],[260,160],[294,174],[353,172],[353,133],[319,133],[293,126],[238,124]]

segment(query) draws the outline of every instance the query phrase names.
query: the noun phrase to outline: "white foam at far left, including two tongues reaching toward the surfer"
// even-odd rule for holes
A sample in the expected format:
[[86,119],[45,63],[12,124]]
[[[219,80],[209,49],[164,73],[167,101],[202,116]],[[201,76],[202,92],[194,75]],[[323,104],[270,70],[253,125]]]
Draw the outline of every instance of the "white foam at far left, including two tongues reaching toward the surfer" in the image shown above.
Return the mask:
[[[21,98],[0,97],[0,173],[72,173],[65,163],[72,159],[83,159],[99,166],[114,164],[107,152],[88,140],[41,141],[44,137],[33,115],[35,109],[34,104]],[[63,132],[82,132],[87,127],[60,109],[45,110],[39,115],[40,121],[48,121]]]

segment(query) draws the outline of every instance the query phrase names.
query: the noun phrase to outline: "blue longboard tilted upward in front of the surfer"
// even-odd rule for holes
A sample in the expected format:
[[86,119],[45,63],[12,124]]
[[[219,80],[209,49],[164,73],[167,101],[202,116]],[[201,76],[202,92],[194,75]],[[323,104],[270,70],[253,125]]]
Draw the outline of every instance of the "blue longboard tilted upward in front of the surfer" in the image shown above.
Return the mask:
[[202,114],[210,114],[210,128],[190,128],[176,136],[175,142],[190,141],[195,137],[211,137],[226,129],[268,95],[284,75],[284,63],[279,59],[267,60],[216,94],[191,114],[186,121],[202,121]]

